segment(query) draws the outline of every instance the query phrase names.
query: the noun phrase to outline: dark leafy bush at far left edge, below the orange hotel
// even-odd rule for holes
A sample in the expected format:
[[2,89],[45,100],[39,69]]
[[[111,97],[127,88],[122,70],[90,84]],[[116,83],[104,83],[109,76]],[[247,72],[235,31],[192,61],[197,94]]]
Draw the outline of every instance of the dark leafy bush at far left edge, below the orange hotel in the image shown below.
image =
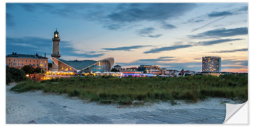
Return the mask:
[[23,70],[10,68],[6,66],[6,84],[11,82],[19,82],[26,79],[26,74]]

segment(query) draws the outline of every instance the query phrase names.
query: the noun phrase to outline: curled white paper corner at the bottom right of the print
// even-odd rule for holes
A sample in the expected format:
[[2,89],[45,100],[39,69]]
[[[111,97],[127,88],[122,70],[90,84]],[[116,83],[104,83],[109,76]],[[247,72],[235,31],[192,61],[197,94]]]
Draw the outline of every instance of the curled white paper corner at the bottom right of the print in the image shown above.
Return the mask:
[[248,124],[248,100],[241,104],[226,103],[226,117],[223,124]]

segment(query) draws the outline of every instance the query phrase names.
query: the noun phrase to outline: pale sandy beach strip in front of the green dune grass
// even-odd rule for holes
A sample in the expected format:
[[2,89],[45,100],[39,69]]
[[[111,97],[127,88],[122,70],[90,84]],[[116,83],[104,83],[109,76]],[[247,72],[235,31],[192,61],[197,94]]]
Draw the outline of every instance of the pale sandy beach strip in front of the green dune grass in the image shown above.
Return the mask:
[[[143,106],[120,107],[118,104],[99,104],[81,100],[77,97],[67,95],[45,94],[41,91],[15,93],[9,91],[15,84],[6,86],[6,123],[28,123],[31,120],[52,115],[51,108],[44,104],[56,104],[65,112],[79,115],[108,116],[129,112],[154,111],[156,109],[219,109],[225,110],[225,102],[236,103],[225,98],[208,98],[197,103],[189,103],[177,100],[178,104],[172,105],[169,102],[150,103]],[[56,107],[55,107],[56,108]],[[58,110],[58,108],[56,108]]]

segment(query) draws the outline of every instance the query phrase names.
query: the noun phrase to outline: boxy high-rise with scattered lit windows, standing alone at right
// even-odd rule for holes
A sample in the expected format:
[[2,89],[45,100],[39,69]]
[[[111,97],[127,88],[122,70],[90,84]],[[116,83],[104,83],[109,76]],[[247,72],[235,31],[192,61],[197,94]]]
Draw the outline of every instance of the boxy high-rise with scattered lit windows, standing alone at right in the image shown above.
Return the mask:
[[221,57],[205,56],[202,58],[203,73],[219,73],[221,72]]

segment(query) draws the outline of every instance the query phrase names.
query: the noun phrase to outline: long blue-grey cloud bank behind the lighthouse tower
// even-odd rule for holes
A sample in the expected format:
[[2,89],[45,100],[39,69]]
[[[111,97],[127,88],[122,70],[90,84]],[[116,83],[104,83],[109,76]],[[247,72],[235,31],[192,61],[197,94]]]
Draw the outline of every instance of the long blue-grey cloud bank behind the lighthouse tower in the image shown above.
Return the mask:
[[[76,53],[77,49],[70,41],[61,40],[60,54],[63,56],[85,57],[93,58],[103,56],[105,53],[90,54],[90,53]],[[26,53],[24,53],[26,51]],[[17,52],[20,54],[35,54],[47,55],[52,54],[52,40],[41,37],[20,37],[11,38],[6,37],[6,54]]]

